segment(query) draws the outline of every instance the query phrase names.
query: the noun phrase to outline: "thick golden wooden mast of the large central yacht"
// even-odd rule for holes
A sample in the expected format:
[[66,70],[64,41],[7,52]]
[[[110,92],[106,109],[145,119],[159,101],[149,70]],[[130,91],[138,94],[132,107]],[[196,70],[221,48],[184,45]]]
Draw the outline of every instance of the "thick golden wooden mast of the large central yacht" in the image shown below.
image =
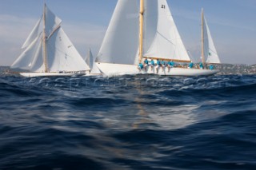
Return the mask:
[[144,15],[144,0],[140,1],[140,13],[139,13],[139,57],[138,62],[142,63],[143,54],[143,15]]

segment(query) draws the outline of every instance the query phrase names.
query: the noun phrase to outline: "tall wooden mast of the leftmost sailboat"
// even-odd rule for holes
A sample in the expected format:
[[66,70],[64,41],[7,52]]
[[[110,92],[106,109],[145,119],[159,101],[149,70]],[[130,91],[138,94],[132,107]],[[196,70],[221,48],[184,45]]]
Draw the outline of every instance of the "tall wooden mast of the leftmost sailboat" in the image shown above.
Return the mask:
[[47,49],[46,49],[46,3],[43,8],[42,46],[43,46],[43,63],[45,65],[45,73],[48,73]]

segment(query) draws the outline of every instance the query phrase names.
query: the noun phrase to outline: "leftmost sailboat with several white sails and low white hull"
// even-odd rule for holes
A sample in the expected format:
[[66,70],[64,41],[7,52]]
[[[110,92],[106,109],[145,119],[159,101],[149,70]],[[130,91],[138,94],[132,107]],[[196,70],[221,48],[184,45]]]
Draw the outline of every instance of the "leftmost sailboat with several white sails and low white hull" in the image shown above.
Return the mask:
[[90,70],[62,29],[61,22],[45,4],[42,17],[11,68],[30,70],[30,73],[20,73],[25,77],[72,76]]

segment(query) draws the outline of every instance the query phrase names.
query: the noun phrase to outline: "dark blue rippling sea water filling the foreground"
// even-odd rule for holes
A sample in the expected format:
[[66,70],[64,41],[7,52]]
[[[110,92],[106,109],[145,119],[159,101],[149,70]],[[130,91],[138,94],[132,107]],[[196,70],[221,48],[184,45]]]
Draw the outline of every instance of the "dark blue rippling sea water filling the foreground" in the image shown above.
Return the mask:
[[5,76],[0,95],[0,169],[256,169],[256,76]]

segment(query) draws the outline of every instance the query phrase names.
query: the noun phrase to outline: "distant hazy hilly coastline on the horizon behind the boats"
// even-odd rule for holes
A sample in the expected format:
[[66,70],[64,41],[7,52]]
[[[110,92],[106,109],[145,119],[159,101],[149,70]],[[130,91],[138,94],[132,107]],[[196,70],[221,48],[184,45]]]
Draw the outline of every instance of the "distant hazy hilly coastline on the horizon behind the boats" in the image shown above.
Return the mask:
[[[217,65],[216,68],[220,70],[218,75],[230,75],[230,74],[256,74],[256,64],[255,65],[245,65],[245,64],[222,64]],[[4,74],[8,71],[21,72],[21,69],[10,69],[10,66],[0,66],[0,74]]]

